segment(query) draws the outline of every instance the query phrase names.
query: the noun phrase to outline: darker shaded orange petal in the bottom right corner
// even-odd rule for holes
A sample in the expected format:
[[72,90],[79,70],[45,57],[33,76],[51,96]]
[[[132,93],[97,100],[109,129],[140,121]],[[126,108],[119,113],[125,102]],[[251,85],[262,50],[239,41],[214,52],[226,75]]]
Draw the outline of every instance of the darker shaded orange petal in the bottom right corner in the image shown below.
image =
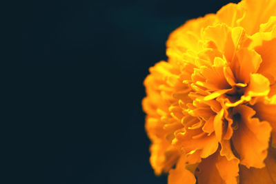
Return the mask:
[[273,148],[268,150],[268,156],[264,161],[266,167],[250,169],[240,165],[239,182],[242,184],[273,184],[276,183],[276,151]]

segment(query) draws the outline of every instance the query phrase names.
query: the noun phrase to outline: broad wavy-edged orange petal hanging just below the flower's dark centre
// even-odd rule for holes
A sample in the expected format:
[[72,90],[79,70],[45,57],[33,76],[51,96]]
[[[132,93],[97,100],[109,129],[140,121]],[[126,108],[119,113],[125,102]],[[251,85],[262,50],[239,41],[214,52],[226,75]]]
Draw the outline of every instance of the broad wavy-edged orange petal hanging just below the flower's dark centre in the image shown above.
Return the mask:
[[232,136],[232,141],[240,156],[241,164],[248,168],[264,167],[271,132],[270,124],[253,118],[255,111],[246,105],[235,107],[233,114],[233,120],[238,128]]

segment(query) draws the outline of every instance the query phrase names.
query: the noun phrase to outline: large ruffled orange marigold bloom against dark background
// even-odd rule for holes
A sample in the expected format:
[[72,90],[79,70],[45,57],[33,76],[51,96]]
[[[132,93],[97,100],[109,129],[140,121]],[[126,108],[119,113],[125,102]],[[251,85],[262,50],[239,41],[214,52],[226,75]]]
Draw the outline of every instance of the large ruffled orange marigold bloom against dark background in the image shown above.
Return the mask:
[[144,81],[155,174],[168,172],[169,184],[276,183],[276,0],[188,21],[166,52]]

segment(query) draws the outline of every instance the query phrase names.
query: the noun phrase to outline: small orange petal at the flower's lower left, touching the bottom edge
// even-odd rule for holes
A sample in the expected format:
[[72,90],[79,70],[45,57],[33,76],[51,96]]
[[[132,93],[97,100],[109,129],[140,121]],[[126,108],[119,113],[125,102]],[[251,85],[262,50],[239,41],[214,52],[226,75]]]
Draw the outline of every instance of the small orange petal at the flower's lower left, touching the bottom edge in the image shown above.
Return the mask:
[[192,172],[186,169],[186,156],[180,157],[177,162],[177,167],[170,170],[168,174],[168,184],[195,184],[195,176]]

